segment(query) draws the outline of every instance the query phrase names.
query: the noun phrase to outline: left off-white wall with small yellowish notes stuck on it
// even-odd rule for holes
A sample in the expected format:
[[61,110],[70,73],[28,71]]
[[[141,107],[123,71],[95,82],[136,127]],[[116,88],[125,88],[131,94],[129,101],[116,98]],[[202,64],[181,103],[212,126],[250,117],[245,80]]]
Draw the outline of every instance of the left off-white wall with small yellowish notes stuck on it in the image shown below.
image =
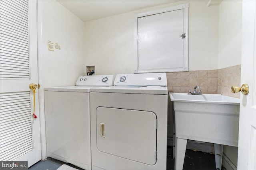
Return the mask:
[[[39,2],[39,57],[43,58],[44,87],[74,86],[84,74],[84,22],[55,0]],[[48,51],[48,40],[60,50]]]

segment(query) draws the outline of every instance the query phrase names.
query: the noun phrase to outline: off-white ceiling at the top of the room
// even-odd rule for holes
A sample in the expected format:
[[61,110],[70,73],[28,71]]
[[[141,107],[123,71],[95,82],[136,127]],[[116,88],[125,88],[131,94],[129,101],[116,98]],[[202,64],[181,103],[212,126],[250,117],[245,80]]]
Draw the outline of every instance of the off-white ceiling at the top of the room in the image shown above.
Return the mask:
[[180,0],[57,0],[82,21],[97,20]]

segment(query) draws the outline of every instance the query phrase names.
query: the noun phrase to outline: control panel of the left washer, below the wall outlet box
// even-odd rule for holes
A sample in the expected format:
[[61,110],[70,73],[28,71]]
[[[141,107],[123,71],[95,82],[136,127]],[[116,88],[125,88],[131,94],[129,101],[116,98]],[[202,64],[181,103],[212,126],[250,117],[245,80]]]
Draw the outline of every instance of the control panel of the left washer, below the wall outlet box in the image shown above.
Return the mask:
[[113,75],[79,76],[76,86],[113,86]]

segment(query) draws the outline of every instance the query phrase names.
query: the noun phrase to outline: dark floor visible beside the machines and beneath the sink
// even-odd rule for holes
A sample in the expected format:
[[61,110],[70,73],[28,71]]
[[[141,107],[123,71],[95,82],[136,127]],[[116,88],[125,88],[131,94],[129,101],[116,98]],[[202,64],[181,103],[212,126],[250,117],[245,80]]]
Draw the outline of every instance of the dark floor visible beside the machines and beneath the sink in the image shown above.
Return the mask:
[[[172,159],[172,147],[167,147],[167,170],[174,170],[174,160]],[[47,158],[47,160],[39,161],[30,168],[29,170],[56,170],[62,164],[67,164],[79,170],[72,164],[62,162],[53,158]],[[193,150],[186,150],[183,170],[216,170],[214,154],[195,152]]]

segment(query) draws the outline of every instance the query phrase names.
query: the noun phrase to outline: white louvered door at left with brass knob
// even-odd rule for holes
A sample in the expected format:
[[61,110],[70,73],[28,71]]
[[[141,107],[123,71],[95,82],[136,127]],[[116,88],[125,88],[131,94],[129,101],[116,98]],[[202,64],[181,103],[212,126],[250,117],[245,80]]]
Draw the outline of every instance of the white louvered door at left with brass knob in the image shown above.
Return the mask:
[[41,160],[30,83],[38,83],[37,1],[0,0],[0,160]]

